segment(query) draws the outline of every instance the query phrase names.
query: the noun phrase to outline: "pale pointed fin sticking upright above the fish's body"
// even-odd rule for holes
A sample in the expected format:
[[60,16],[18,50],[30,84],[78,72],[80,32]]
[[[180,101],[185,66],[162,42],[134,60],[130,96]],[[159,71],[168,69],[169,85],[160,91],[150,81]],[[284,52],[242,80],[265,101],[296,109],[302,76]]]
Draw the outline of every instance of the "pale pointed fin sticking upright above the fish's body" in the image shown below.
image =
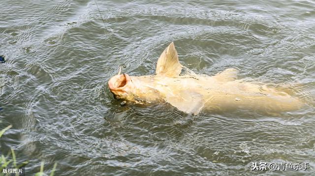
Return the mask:
[[174,77],[178,76],[181,71],[182,65],[178,61],[177,51],[172,42],[159,56],[156,74]]

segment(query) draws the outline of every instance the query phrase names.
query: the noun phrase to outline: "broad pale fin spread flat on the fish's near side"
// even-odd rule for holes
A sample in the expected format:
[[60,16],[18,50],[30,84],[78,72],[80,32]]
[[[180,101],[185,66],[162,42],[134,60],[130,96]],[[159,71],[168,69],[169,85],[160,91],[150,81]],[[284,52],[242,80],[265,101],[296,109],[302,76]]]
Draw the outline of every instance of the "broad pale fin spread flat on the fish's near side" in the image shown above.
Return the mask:
[[193,115],[197,115],[205,103],[202,95],[189,90],[168,96],[165,101],[176,107],[178,110]]

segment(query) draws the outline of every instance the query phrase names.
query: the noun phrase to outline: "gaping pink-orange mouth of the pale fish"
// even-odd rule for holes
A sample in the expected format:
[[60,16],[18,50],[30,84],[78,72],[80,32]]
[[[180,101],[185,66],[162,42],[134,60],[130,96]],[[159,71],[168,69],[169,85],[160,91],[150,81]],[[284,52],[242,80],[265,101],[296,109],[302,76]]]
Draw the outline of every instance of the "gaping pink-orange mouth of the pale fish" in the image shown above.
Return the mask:
[[108,81],[109,89],[111,92],[123,91],[130,80],[130,76],[127,74],[115,75]]

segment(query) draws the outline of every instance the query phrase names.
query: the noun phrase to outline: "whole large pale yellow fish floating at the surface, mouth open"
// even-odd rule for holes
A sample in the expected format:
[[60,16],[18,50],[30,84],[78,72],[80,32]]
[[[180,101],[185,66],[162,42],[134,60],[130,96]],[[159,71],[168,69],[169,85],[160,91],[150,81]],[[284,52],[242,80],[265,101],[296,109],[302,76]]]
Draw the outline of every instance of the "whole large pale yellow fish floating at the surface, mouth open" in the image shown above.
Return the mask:
[[[184,71],[184,74],[181,74]],[[166,102],[178,110],[197,115],[201,110],[226,112],[247,109],[278,113],[303,106],[289,91],[266,83],[238,79],[238,69],[228,68],[216,75],[198,75],[179,62],[174,42],[158,58],[155,75],[111,77],[108,87],[115,99],[124,102]]]

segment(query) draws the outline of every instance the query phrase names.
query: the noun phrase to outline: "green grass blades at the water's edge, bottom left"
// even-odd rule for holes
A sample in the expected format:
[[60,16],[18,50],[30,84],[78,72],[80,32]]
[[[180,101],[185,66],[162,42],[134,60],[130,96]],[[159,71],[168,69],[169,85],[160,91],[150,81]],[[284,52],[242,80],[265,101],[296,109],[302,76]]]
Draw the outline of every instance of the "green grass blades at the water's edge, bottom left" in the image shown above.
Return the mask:
[[[0,131],[0,137],[4,134],[6,130],[10,129],[11,127],[12,125],[9,125],[5,127],[4,129],[2,129]],[[10,159],[10,154],[12,155],[12,159]],[[11,167],[10,167],[11,169],[19,169],[26,166],[29,163],[29,161],[24,161],[21,165],[17,166],[15,152],[13,149],[11,149],[11,152],[9,152],[7,156],[4,156],[3,154],[1,154],[0,163],[1,163],[0,176],[10,176],[10,174],[4,175],[2,173],[2,169],[9,167],[9,164],[11,164]],[[54,176],[56,167],[57,167],[57,163],[54,164],[54,167],[49,176]],[[18,176],[18,174],[16,176]],[[41,162],[40,171],[36,173],[35,176],[44,176],[44,162]]]

